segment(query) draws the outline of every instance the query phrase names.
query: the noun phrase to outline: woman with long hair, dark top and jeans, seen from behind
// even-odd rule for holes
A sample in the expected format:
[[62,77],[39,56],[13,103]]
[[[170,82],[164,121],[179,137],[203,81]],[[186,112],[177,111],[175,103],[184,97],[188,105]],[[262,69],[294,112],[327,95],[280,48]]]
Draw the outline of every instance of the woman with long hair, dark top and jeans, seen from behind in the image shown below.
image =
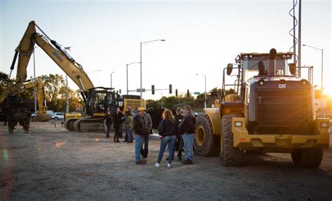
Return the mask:
[[[162,120],[158,125],[158,132],[161,136],[161,140],[158,160],[157,163],[155,163],[155,167],[160,166],[162,155],[164,154],[167,144],[169,151],[168,155],[172,156],[174,154],[175,141],[177,141],[177,123],[175,123],[172,111],[166,109],[164,113],[162,113]],[[171,167],[171,163],[172,157],[169,157],[167,167]]]

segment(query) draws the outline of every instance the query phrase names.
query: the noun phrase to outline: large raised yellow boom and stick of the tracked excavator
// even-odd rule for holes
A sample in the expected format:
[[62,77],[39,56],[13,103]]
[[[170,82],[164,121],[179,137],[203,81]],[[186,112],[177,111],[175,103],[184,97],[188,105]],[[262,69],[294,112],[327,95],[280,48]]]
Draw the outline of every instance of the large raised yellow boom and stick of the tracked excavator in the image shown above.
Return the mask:
[[[44,34],[36,32],[36,27]],[[11,74],[13,72],[15,61],[18,57],[18,71],[15,80],[8,81],[8,87],[4,90],[4,93],[0,96],[0,104],[4,102],[4,99],[8,95],[15,94],[20,90],[23,83],[27,79],[27,65],[29,64],[30,57],[34,52],[34,44],[37,44],[44,52],[64,71],[65,74],[71,78],[78,88],[83,92],[83,99],[88,95],[88,90],[94,88],[92,81],[83,70],[83,67],[75,62],[75,60],[64,50],[61,46],[53,40],[50,40],[48,36],[41,30],[34,21],[29,22],[27,30],[15,49],[15,55],[13,63],[11,65]]]

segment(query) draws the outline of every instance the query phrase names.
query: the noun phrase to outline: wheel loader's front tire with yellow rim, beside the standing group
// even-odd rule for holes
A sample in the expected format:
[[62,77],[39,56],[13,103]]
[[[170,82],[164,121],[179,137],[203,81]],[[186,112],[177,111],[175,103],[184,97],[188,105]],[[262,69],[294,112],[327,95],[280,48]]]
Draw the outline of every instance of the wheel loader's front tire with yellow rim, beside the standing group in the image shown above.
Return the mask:
[[196,153],[202,156],[216,156],[220,153],[220,138],[213,134],[207,114],[196,118],[194,147]]

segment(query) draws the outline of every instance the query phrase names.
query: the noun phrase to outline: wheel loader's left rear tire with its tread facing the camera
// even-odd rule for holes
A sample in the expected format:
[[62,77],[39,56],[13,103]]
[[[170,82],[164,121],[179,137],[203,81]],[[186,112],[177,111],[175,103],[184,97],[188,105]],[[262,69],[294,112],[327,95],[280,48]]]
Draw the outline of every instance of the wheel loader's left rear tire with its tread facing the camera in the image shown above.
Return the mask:
[[221,165],[242,166],[243,151],[233,146],[232,118],[238,115],[224,115],[221,120]]

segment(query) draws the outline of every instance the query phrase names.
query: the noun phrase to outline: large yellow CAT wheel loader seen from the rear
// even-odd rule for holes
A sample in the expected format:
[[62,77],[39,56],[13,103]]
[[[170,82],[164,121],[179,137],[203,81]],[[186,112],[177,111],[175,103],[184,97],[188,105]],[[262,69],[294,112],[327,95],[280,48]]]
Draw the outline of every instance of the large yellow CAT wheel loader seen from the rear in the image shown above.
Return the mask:
[[[291,153],[297,167],[319,167],[329,120],[316,118],[310,79],[296,77],[292,53],[241,53],[223,69],[221,98],[195,125],[195,151],[244,165],[244,153]],[[311,72],[312,73],[312,72]],[[226,76],[227,75],[227,76]],[[226,89],[234,93],[226,95]]]

